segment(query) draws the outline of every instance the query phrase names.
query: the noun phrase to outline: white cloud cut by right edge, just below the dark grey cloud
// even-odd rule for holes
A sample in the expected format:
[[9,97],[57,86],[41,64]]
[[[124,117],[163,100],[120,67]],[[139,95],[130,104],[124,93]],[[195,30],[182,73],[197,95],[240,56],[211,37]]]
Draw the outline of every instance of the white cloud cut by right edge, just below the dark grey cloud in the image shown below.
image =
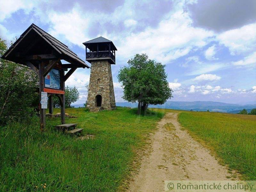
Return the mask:
[[256,23],[232,29],[217,35],[217,40],[228,47],[232,55],[255,51]]

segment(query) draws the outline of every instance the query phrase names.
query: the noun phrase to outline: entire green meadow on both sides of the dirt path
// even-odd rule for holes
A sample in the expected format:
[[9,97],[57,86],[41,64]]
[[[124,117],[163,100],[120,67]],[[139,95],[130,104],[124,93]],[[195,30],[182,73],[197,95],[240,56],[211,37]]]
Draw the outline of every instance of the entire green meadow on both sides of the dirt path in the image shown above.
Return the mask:
[[184,129],[220,163],[244,180],[256,180],[256,116],[171,109],[138,116],[129,108],[98,113],[68,108],[66,113],[77,118],[66,123],[78,123],[82,135],[94,139],[56,131],[60,118],[47,118],[44,132],[38,117],[0,127],[0,191],[116,191],[166,112],[179,113]]

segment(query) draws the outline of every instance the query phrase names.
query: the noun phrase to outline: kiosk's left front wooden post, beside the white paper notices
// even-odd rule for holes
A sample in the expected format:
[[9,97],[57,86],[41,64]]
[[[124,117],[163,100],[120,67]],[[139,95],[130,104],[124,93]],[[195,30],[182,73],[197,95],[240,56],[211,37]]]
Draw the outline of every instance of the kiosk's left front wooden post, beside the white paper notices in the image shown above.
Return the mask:
[[[41,92],[44,92],[44,62],[39,62],[39,100],[41,101]],[[45,109],[42,109],[42,105],[40,103],[40,129],[44,131],[45,128]]]

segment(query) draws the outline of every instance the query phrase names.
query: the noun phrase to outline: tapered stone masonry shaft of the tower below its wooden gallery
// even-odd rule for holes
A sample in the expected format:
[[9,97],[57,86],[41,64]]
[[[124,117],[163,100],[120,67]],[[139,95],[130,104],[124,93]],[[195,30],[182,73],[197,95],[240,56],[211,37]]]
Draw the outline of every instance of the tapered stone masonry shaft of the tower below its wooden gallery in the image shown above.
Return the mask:
[[[97,107],[97,95],[102,98],[100,107]],[[91,61],[87,107],[90,111],[116,109],[112,72],[108,60]]]

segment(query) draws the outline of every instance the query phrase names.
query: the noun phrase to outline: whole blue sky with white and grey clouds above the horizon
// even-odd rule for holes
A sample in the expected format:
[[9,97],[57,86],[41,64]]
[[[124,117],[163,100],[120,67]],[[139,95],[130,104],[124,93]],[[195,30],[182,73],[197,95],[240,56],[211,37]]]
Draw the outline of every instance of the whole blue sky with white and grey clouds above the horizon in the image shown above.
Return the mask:
[[[83,42],[112,40],[116,102],[124,101],[118,70],[147,53],[166,65],[173,101],[256,103],[255,0],[0,0],[0,12],[0,36],[8,41],[35,23],[83,60]],[[89,78],[90,69],[77,69],[67,80],[80,92],[76,104],[85,102]]]

